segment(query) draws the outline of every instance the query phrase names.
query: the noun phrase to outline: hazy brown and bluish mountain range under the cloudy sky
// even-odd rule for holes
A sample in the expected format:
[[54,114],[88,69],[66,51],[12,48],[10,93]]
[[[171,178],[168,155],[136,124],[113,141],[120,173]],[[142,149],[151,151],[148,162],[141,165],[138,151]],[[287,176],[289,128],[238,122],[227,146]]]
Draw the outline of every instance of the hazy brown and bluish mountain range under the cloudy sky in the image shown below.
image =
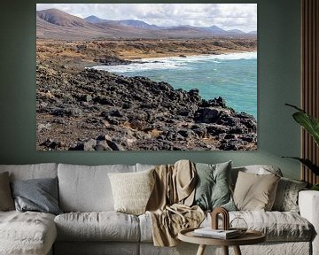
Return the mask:
[[[253,34],[249,34],[253,36]],[[243,31],[223,30],[221,27],[193,27],[188,25],[159,27],[142,20],[108,20],[91,15],[85,19],[58,9],[36,12],[38,38],[81,40],[120,38],[205,38],[211,36],[248,36]]]

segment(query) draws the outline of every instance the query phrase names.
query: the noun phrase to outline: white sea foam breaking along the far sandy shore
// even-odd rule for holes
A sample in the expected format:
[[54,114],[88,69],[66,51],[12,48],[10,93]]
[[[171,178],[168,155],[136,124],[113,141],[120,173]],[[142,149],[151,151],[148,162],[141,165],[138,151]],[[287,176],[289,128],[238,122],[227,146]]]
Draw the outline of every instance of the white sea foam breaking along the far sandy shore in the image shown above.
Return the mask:
[[[136,60],[136,63],[119,66],[93,66],[97,70],[105,70],[113,73],[127,73],[138,72],[146,70],[165,70],[180,68],[183,70],[190,69],[190,63],[205,63],[213,61],[216,64],[221,63],[222,60],[236,60],[236,59],[253,59],[257,58],[257,52],[237,52],[221,55],[198,55],[183,57],[168,57],[168,58],[144,58]],[[143,63],[141,63],[143,62]]]

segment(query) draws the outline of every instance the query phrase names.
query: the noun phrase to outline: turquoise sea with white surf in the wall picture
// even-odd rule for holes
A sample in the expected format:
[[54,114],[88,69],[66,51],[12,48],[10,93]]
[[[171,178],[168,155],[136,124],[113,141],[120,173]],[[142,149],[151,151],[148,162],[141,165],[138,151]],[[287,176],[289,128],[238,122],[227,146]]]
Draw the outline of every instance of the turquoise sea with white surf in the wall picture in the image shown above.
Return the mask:
[[252,114],[257,119],[257,52],[145,58],[143,61],[143,64],[94,68],[166,81],[175,89],[198,89],[202,98],[222,97],[237,112]]

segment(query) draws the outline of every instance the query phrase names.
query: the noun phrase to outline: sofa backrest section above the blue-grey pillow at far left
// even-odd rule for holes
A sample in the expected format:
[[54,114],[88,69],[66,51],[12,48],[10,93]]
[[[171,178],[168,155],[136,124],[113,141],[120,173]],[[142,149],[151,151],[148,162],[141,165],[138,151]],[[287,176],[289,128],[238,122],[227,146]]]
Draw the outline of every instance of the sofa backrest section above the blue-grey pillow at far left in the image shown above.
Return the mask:
[[10,181],[54,178],[58,175],[58,164],[0,165],[0,173],[4,172],[9,172]]

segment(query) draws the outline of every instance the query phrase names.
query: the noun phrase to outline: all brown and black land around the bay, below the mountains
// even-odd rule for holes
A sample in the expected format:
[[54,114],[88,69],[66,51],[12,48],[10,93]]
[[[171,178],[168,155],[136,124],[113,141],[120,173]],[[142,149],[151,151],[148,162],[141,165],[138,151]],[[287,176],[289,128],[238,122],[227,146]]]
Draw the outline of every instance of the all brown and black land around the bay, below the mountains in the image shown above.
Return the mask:
[[256,49],[256,40],[220,41],[37,41],[37,150],[256,150],[257,121],[233,111],[218,95],[204,100],[198,89],[174,89],[167,82],[85,68],[129,65],[124,55],[141,61],[136,58]]

